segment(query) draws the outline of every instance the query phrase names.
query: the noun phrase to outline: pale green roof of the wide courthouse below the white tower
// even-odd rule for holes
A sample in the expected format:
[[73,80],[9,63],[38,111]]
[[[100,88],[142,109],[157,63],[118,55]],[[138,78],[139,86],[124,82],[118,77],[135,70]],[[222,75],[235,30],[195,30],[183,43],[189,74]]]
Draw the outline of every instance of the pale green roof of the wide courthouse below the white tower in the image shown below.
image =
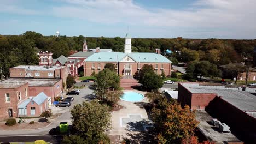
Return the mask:
[[168,58],[162,56],[161,54],[147,52],[98,52],[85,59],[85,62],[119,62],[126,56],[129,56],[136,62],[171,63]]

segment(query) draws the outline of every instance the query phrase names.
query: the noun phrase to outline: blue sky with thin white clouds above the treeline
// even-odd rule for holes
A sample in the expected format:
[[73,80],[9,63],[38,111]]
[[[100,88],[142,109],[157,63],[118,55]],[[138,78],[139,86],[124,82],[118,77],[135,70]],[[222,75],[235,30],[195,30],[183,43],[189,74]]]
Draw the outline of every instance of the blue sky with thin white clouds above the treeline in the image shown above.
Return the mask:
[[0,0],[0,34],[256,39],[255,0]]

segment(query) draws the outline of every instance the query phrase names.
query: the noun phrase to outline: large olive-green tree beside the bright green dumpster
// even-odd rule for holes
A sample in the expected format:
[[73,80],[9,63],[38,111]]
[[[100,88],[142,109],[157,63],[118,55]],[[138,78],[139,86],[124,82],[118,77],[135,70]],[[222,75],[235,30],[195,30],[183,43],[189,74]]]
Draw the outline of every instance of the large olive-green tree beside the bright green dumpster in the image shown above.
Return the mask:
[[71,109],[72,124],[76,135],[83,139],[102,140],[104,130],[110,128],[110,109],[105,104],[99,104],[97,100],[83,101],[74,105]]

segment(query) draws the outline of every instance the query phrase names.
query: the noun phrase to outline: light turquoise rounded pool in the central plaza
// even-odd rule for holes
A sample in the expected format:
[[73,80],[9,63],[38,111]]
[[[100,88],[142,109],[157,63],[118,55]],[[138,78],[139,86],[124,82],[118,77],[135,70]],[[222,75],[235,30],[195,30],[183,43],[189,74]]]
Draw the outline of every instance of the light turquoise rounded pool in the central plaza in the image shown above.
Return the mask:
[[121,100],[130,101],[130,102],[138,102],[143,99],[144,99],[144,96],[136,92],[124,92],[123,97],[121,97]]

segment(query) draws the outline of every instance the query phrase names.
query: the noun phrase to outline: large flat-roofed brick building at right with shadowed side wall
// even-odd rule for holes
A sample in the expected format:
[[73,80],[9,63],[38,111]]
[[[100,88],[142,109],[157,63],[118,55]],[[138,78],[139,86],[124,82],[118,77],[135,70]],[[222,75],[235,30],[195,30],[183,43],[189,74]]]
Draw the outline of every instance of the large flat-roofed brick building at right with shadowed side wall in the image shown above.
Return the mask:
[[230,126],[245,142],[256,142],[256,96],[224,86],[179,83],[178,102],[193,110],[206,109]]

